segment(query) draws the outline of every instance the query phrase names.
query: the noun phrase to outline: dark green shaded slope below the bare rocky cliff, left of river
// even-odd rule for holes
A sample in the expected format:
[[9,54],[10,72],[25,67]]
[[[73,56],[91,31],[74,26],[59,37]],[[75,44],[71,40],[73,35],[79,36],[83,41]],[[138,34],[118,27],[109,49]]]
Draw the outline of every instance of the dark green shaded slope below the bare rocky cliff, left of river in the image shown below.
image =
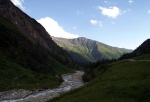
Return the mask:
[[0,17],[0,91],[59,85],[62,81],[60,75],[72,70],[48,53],[33,45],[12,23]]

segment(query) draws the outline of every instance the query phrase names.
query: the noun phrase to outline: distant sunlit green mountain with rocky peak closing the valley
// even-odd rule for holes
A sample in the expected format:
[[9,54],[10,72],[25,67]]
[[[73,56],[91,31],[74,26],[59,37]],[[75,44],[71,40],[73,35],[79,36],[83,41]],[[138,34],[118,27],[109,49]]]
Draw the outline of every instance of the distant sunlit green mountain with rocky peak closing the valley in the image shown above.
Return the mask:
[[56,38],[52,39],[63,49],[68,51],[77,63],[95,62],[102,59],[117,59],[131,50],[112,47],[98,41],[84,37],[76,39]]

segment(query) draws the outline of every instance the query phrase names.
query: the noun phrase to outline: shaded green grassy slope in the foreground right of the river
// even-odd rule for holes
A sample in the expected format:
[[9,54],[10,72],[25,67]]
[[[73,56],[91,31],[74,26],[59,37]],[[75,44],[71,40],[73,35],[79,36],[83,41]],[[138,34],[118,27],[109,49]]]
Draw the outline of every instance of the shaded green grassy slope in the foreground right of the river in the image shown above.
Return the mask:
[[106,72],[83,88],[52,102],[150,102],[149,86],[150,62],[123,60],[109,64]]

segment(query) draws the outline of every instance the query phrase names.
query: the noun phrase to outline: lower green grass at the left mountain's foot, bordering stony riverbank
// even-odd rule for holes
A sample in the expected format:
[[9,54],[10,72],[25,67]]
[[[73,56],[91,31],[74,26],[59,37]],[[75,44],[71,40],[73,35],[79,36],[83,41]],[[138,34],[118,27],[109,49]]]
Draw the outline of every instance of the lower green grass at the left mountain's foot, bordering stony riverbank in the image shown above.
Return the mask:
[[61,83],[60,77],[36,73],[0,56],[0,91],[11,89],[45,89]]

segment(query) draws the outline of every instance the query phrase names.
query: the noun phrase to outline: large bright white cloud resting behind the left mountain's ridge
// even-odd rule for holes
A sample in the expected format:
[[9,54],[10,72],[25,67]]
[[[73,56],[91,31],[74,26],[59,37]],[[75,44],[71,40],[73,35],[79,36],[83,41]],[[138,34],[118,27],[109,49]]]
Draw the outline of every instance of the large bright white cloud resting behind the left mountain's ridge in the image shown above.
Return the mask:
[[45,27],[46,31],[54,37],[62,37],[62,38],[78,38],[77,34],[71,34],[69,32],[64,31],[63,27],[58,24],[57,21],[50,17],[45,17],[37,20],[43,27]]

